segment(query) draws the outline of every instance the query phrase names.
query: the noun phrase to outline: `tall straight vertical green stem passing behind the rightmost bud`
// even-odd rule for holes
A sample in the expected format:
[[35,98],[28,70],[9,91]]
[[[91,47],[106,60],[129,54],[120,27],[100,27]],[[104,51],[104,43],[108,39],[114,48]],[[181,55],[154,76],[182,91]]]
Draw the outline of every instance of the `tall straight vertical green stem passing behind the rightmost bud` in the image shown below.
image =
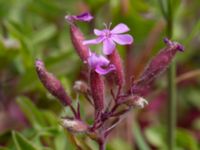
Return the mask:
[[[173,9],[172,0],[167,1],[167,36],[172,38],[173,35]],[[176,137],[176,62],[173,61],[168,70],[168,149],[175,149]]]

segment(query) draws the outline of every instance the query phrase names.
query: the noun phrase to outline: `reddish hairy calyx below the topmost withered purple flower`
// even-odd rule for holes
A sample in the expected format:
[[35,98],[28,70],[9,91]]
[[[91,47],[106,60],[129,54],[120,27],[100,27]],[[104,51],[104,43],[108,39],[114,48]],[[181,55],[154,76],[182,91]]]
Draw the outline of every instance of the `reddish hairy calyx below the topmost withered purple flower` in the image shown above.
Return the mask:
[[79,30],[78,27],[76,27],[76,25],[71,24],[70,35],[71,35],[72,44],[76,52],[78,53],[82,61],[86,61],[89,56],[89,48],[87,45],[82,44],[84,41],[84,36],[82,32]]

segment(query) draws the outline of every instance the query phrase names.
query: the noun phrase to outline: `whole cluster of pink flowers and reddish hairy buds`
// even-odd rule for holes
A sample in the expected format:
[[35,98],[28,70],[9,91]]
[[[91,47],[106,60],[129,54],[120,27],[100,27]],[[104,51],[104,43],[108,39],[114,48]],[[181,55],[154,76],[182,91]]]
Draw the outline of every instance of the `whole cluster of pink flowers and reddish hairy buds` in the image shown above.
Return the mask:
[[[116,43],[120,45],[133,43],[133,37],[124,34],[130,30],[128,26],[119,23],[112,30],[107,26],[103,30],[94,29],[97,38],[85,40],[83,33],[75,23],[77,21],[88,22],[93,19],[93,16],[90,13],[83,13],[78,16],[68,15],[65,19],[69,23],[72,44],[89,70],[88,80],[76,81],[74,90],[83,94],[85,99],[94,107],[93,124],[88,125],[81,118],[80,105],[78,104],[78,107],[74,108],[73,101],[60,81],[46,70],[41,60],[36,60],[36,71],[44,87],[65,106],[68,106],[74,114],[73,117],[61,119],[63,127],[72,133],[87,133],[89,137],[99,143],[100,149],[103,150],[102,145],[105,144],[105,139],[122,120],[121,117],[133,107],[143,108],[148,104],[143,98],[143,91],[160,73],[165,71],[176,52],[182,52],[184,48],[179,43],[172,42],[167,38],[164,39],[166,47],[150,61],[139,79],[132,83],[130,89],[125,90],[124,67],[117,52]],[[101,43],[103,44],[101,54],[90,50],[89,45]],[[113,84],[109,85],[109,82],[105,82],[111,81],[111,79]],[[106,96],[108,93],[105,92],[106,86],[111,89],[112,100],[109,96]]]

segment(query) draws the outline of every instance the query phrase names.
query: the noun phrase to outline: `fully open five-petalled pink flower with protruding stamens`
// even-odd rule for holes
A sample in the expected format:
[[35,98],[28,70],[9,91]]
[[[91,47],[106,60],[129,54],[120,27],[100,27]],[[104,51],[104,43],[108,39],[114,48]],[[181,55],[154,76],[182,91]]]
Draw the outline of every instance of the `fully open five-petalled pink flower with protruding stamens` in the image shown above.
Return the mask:
[[86,40],[83,42],[83,45],[99,44],[103,42],[103,53],[109,55],[115,49],[115,42],[120,45],[128,45],[133,42],[133,37],[131,35],[121,34],[128,31],[129,28],[123,23],[118,24],[112,30],[109,30],[108,28],[104,30],[94,29],[94,34],[98,36],[98,38]]

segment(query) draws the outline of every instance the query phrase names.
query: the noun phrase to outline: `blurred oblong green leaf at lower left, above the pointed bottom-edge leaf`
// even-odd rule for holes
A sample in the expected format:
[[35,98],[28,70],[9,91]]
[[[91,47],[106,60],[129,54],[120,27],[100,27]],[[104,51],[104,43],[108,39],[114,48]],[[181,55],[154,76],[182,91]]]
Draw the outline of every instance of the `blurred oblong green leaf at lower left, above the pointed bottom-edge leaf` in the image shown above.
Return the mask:
[[17,104],[35,129],[46,126],[42,112],[27,97],[18,97]]

